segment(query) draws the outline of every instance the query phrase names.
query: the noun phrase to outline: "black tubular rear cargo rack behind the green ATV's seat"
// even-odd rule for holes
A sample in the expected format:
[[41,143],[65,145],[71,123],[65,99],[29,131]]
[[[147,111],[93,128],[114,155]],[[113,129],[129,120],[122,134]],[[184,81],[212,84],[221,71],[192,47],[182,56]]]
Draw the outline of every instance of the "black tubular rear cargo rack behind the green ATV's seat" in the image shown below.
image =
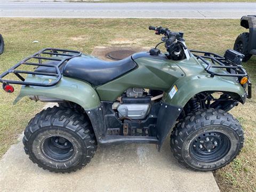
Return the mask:
[[[56,85],[60,79],[61,79],[61,73],[59,67],[66,61],[68,61],[71,58],[78,57],[82,53],[79,51],[73,51],[73,50],[66,50],[66,49],[54,49],[54,48],[46,48],[41,51],[38,51],[37,53],[30,55],[29,57],[23,59],[22,61],[18,62],[15,66],[11,67],[7,71],[5,71],[3,74],[0,75],[0,82],[3,83],[3,85],[7,84],[19,84],[19,85],[31,85],[31,86],[53,86]],[[37,61],[37,62],[31,62]],[[44,62],[43,62],[44,61]],[[49,63],[49,61],[58,61],[58,63],[55,63],[52,65]],[[48,63],[47,63],[48,62]],[[18,67],[21,65],[29,65],[29,66],[36,66],[40,67],[54,67],[56,70],[56,73],[43,73],[38,71],[28,71],[28,70],[18,70]],[[21,81],[13,81],[9,79],[3,79],[4,77],[8,76],[9,74],[14,74],[17,76]],[[44,76],[51,76],[55,77],[54,81],[49,83],[35,83],[35,82],[26,82],[25,78],[21,74],[31,74],[31,75],[44,75]]]

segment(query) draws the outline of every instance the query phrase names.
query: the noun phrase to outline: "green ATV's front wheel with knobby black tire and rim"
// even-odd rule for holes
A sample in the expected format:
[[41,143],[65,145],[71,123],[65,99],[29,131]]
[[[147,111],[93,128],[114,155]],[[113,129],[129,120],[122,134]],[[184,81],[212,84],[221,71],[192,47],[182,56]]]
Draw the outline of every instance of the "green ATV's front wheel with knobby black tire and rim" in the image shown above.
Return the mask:
[[232,115],[199,109],[175,125],[170,145],[180,164],[197,171],[213,171],[233,161],[243,143],[242,127]]

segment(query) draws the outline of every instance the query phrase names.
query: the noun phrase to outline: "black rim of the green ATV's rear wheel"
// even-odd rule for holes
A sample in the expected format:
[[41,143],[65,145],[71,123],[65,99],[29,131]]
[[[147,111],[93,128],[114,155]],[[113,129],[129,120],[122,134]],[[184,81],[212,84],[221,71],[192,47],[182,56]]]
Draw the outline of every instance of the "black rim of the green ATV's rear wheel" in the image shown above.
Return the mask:
[[66,162],[74,156],[72,143],[60,136],[44,139],[41,150],[46,158],[55,162]]

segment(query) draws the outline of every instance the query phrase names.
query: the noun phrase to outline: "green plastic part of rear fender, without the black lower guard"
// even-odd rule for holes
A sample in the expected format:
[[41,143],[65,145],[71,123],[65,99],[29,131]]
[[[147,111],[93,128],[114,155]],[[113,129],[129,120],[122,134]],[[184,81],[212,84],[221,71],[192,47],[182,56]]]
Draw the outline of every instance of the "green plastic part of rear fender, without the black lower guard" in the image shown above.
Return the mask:
[[[53,81],[53,78],[39,75],[28,75],[26,81],[46,83]],[[21,98],[28,95],[57,98],[75,102],[85,110],[91,110],[100,106],[99,96],[90,84],[65,76],[62,76],[57,85],[50,87],[22,86],[20,94],[13,103],[17,103]]]

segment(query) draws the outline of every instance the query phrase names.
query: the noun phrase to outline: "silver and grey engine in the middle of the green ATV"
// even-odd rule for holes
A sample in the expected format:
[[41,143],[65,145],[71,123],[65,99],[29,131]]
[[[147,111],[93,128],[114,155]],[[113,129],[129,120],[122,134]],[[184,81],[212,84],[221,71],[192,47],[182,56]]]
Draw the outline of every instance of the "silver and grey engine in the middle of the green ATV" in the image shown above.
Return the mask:
[[144,119],[150,110],[148,93],[141,88],[127,89],[121,97],[120,102],[115,102],[113,109],[118,111],[120,119]]

